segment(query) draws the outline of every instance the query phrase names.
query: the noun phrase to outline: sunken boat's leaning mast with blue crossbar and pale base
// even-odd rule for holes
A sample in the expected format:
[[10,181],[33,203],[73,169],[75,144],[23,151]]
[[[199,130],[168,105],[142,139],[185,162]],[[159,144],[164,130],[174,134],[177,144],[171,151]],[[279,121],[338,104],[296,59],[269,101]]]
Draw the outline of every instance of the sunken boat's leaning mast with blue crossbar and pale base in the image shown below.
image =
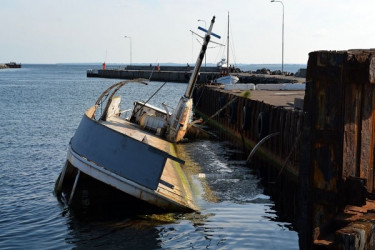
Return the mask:
[[212,33],[212,28],[214,26],[214,23],[215,23],[215,16],[213,16],[208,30],[198,27],[200,30],[205,31],[206,35],[204,37],[204,42],[203,42],[201,51],[199,52],[197,62],[195,63],[193,73],[190,76],[190,80],[186,88],[185,94],[184,96],[180,98],[180,101],[177,104],[175,112],[172,114],[172,116],[170,117],[168,121],[166,137],[170,142],[179,142],[184,138],[186,134],[187,126],[189,123],[189,119],[190,119],[190,115],[191,115],[192,107],[193,107],[193,99],[191,98],[191,96],[193,94],[195,83],[197,82],[197,79],[198,79],[199,69],[202,65],[202,62],[206,53],[207,45],[210,42],[211,35],[220,38],[220,36]]

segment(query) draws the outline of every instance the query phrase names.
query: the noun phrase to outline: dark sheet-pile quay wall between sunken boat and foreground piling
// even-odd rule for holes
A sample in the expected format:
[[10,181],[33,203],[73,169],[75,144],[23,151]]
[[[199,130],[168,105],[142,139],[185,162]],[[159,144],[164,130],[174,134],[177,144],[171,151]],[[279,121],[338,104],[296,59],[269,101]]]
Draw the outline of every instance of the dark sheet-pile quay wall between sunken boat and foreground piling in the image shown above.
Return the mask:
[[[218,128],[219,135],[233,141],[247,153],[266,135],[280,134],[267,140],[259,155],[277,169],[284,168],[297,182],[299,165],[299,136],[303,112],[285,109],[252,100],[210,86],[197,88],[194,93],[195,113],[207,119],[231,102],[208,124]],[[287,161],[286,161],[287,159]]]

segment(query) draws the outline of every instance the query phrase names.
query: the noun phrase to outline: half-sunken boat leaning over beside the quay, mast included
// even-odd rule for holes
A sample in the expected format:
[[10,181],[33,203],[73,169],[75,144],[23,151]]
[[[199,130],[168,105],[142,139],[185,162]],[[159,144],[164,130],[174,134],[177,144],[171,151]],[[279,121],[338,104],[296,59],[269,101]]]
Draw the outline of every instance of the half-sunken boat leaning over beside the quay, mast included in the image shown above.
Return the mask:
[[[60,200],[71,205],[86,196],[94,201],[108,197],[117,201],[121,196],[129,206],[148,205],[161,212],[198,210],[181,169],[185,162],[177,157],[174,143],[184,138],[188,128],[192,92],[214,22],[215,17],[174,113],[147,102],[135,102],[131,111],[121,111],[121,97],[116,94],[130,82],[146,85],[143,80],[110,86],[85,112],[56,181]],[[85,192],[79,192],[80,187]]]

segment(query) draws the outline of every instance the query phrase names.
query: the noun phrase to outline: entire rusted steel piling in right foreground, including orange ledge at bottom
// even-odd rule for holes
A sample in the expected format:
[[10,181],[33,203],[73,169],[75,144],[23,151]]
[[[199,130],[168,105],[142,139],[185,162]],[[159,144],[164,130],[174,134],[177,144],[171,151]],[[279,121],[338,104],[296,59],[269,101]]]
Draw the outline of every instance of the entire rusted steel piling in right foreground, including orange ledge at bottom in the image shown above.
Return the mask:
[[301,213],[316,245],[375,248],[374,110],[375,50],[310,53],[301,181],[311,206]]

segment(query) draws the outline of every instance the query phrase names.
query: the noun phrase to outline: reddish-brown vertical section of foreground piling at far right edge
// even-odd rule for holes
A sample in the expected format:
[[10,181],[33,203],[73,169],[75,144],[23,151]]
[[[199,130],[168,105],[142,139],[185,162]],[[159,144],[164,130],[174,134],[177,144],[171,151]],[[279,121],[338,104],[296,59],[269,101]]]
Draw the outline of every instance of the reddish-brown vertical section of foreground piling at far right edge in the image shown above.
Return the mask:
[[375,50],[349,51],[345,79],[343,178],[366,180],[374,192]]

